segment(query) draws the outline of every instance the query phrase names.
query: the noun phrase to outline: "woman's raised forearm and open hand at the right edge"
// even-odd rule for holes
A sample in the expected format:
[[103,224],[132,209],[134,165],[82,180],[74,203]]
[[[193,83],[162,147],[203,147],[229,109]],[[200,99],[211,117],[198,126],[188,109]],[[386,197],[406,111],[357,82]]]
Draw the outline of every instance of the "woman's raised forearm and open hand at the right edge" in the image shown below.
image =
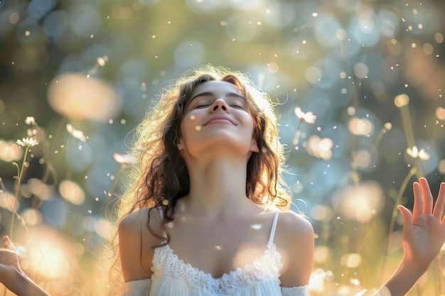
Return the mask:
[[[431,261],[439,253],[445,240],[445,183],[440,185],[439,195],[433,207],[433,195],[425,178],[414,182],[413,212],[399,206],[404,218],[402,246],[404,256],[402,261],[385,283],[385,287],[375,295],[391,296],[405,295],[417,280],[427,271]],[[386,293],[386,294],[385,294]]]

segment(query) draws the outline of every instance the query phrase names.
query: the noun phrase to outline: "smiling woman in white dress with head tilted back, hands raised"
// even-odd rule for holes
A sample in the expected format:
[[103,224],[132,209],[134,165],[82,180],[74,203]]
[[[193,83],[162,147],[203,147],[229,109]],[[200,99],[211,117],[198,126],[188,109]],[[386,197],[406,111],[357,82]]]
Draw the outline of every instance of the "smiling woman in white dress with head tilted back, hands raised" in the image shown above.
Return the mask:
[[[118,294],[309,295],[313,229],[289,211],[267,94],[239,72],[200,68],[163,91],[135,139],[114,240]],[[404,258],[385,283],[392,296],[414,285],[445,239],[445,183],[434,207],[427,180],[413,186],[413,213],[399,207]],[[0,262],[10,290],[42,295],[17,264]]]

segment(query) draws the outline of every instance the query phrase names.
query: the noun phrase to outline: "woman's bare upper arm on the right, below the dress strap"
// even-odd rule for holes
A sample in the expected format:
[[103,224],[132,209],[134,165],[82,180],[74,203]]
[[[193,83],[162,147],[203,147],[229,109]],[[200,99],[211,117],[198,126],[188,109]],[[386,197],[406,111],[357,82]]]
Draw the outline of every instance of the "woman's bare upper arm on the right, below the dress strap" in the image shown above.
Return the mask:
[[277,243],[282,254],[282,287],[308,285],[313,264],[313,227],[294,212],[280,214]]

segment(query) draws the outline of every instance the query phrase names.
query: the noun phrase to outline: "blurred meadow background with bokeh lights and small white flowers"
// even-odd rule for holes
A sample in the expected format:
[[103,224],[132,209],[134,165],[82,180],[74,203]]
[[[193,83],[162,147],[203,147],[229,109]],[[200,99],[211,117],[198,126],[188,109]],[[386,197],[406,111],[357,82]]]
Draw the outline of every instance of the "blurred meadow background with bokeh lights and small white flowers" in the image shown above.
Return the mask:
[[[0,233],[52,295],[107,295],[132,129],[210,63],[276,103],[292,208],[316,231],[313,295],[377,287],[402,256],[395,206],[418,177],[434,194],[445,180],[444,15],[442,0],[0,0]],[[442,251],[409,295],[445,295],[444,276]]]

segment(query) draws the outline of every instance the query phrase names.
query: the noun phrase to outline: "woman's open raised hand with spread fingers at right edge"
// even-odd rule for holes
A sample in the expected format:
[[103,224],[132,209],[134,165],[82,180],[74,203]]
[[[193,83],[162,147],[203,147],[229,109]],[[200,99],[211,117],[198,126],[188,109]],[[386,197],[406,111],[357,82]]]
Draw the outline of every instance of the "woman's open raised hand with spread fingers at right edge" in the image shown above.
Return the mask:
[[412,214],[406,207],[398,207],[404,218],[402,246],[404,259],[414,268],[425,271],[444,245],[445,183],[440,185],[434,206],[427,179],[422,177],[414,182],[413,189]]

